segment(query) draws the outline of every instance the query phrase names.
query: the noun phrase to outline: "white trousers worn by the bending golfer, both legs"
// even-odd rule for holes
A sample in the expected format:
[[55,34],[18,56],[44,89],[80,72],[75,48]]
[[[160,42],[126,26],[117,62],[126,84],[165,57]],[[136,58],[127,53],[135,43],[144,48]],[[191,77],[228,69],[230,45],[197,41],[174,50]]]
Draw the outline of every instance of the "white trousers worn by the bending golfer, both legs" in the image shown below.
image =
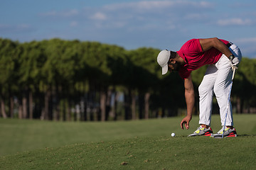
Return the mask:
[[[236,45],[229,47],[230,52],[238,57],[241,61],[242,54],[240,49]],[[199,91],[199,124],[209,125],[213,108],[213,93],[218,101],[220,108],[220,121],[224,125],[225,113],[228,106],[228,94],[230,93],[230,85],[232,82],[233,70],[230,64],[230,60],[225,55],[220,57],[220,60],[216,64],[211,64],[206,70],[206,74],[203,77],[203,81],[198,87]],[[228,108],[227,120],[225,125],[233,126],[233,113],[230,102]]]

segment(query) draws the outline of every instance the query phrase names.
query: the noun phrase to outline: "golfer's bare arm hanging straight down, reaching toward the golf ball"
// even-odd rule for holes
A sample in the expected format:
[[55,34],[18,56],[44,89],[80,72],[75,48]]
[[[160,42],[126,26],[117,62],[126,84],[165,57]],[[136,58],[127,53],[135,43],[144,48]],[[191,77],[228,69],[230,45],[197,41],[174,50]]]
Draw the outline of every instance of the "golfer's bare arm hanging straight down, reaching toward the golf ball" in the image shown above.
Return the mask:
[[183,129],[183,125],[185,125],[185,128],[189,128],[189,122],[192,119],[192,113],[193,113],[193,106],[195,104],[195,94],[193,89],[193,82],[191,75],[188,77],[188,79],[184,80],[184,87],[185,87],[185,98],[186,98],[186,105],[187,105],[187,115],[183,120],[181,120],[181,128]]

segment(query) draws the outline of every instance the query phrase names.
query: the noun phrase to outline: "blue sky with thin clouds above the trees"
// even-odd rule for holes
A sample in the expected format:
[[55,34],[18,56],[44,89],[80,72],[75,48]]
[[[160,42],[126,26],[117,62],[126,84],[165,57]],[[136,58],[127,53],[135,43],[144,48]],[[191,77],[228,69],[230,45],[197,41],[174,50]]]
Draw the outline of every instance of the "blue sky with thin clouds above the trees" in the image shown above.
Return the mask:
[[256,1],[0,0],[0,38],[97,41],[177,51],[192,38],[229,40],[256,58]]

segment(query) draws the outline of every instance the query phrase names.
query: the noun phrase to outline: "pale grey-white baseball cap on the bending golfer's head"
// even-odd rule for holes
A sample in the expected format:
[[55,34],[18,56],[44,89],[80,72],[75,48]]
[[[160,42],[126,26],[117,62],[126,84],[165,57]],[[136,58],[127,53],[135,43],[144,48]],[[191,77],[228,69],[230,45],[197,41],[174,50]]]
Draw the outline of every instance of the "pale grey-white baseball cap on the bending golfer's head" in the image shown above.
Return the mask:
[[162,74],[166,74],[168,72],[168,62],[169,58],[171,56],[171,52],[169,50],[162,50],[159,52],[159,55],[157,56],[157,62],[162,67]]

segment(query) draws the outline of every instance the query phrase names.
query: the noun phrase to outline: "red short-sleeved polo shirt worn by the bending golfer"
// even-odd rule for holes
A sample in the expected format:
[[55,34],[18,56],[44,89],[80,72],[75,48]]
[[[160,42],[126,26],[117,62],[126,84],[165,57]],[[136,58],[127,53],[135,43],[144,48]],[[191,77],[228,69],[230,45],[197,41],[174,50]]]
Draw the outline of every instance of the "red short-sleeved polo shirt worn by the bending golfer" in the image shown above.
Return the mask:
[[[221,41],[228,44],[228,41],[226,40]],[[203,52],[199,39],[188,40],[182,45],[181,50],[177,51],[177,53],[186,62],[186,64],[181,66],[178,71],[178,74],[182,79],[188,78],[193,70],[198,69],[203,65],[215,64],[223,55],[214,47]]]

